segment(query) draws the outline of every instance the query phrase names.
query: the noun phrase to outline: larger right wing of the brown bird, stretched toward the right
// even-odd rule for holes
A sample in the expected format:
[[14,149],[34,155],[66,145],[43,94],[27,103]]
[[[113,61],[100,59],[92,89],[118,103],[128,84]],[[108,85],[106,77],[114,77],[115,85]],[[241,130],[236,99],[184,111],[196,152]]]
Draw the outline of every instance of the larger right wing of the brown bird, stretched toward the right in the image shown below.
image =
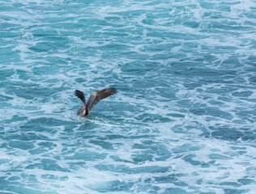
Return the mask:
[[101,99],[105,99],[109,97],[109,95],[114,95],[116,93],[117,93],[117,90],[113,87],[104,89],[101,91],[92,92],[86,104],[86,114],[89,115],[90,112],[92,111],[92,108],[94,108],[96,103],[99,103]]

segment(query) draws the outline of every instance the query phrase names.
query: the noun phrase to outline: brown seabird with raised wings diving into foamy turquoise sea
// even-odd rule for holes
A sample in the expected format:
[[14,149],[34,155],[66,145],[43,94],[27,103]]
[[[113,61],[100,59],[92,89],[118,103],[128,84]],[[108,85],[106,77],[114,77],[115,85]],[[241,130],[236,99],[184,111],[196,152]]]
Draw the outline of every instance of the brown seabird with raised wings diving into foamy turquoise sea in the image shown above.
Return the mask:
[[117,90],[113,87],[103,89],[101,91],[94,91],[90,95],[88,102],[86,103],[83,91],[75,90],[75,96],[82,100],[83,104],[81,108],[76,112],[79,116],[88,116],[92,111],[92,108],[95,107],[96,103],[99,103],[101,99],[105,99],[110,95],[117,93]]

